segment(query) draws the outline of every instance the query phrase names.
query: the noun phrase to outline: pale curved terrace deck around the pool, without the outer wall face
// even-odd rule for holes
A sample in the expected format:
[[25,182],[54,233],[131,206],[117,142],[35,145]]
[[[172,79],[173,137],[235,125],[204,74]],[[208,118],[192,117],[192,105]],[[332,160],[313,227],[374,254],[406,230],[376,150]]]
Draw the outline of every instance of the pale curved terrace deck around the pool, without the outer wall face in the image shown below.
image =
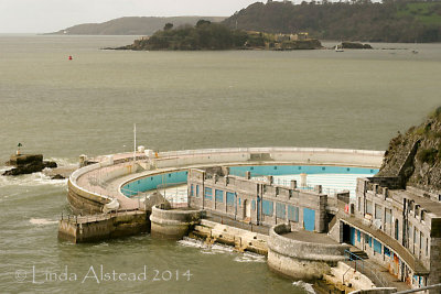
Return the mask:
[[[206,152],[206,153],[204,153]],[[279,160],[254,161],[250,159],[239,159],[239,155],[251,154],[252,152],[279,152]],[[291,156],[293,153],[295,156]],[[315,152],[315,153],[314,153]],[[270,153],[271,155],[276,153]],[[288,155],[287,155],[288,154]],[[147,177],[149,175],[175,172],[187,168],[203,168],[213,165],[342,165],[378,168],[383,161],[380,151],[357,151],[357,150],[330,150],[330,149],[298,149],[298,148],[268,148],[268,149],[225,149],[225,150],[195,150],[195,151],[175,151],[163,152],[149,159],[146,153],[136,153],[137,161],[133,168],[133,153],[119,153],[110,155],[112,164],[106,164],[109,156],[98,156],[93,161],[98,162],[99,167],[82,173],[76,178],[76,185],[92,194],[118,199],[120,210],[132,210],[140,208],[139,198],[129,198],[125,196],[120,188],[127,182],[136,178]],[[212,156],[212,159],[211,159]],[[217,156],[217,157],[216,157]],[[229,157],[228,157],[229,156]],[[236,156],[238,161],[227,161]],[[275,155],[276,156],[276,155]],[[292,160],[288,160],[289,157]],[[316,159],[314,159],[316,156]],[[346,160],[342,157],[346,156]],[[354,156],[355,162],[351,163],[348,159]],[[367,160],[364,157],[366,156]],[[198,161],[208,161],[201,163]],[[207,160],[208,159],[208,160]],[[311,160],[312,159],[312,160]],[[181,161],[181,162],[180,162]],[[347,161],[347,162],[346,162]],[[153,165],[152,170],[146,170],[146,163]],[[153,163],[153,164],[152,164]],[[158,165],[165,165],[164,167]],[[133,171],[136,170],[136,171]],[[126,171],[125,173],[119,173]]]

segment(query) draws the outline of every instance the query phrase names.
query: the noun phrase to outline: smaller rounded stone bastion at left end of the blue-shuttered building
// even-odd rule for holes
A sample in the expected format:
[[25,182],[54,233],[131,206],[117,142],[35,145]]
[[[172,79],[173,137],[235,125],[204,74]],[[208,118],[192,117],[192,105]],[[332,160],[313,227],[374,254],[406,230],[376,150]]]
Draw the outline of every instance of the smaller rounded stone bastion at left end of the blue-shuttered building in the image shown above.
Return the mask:
[[151,236],[181,239],[194,225],[198,224],[202,216],[203,210],[166,210],[160,206],[153,206],[150,215]]

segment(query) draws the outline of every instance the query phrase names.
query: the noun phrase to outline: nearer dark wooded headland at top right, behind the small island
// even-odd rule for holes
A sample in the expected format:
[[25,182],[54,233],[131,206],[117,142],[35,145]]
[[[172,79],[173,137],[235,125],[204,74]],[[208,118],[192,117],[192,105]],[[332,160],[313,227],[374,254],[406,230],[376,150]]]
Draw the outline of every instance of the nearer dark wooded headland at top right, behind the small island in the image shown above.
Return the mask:
[[441,2],[370,0],[254,3],[224,24],[267,33],[308,32],[320,40],[441,42]]

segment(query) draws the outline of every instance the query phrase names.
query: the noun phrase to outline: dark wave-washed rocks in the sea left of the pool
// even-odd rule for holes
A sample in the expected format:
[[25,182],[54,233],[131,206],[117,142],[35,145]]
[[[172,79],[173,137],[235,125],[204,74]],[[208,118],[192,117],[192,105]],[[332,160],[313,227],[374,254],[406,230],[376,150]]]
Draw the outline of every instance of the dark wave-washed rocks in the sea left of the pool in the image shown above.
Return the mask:
[[7,165],[15,166],[12,170],[6,171],[2,175],[23,175],[39,173],[44,168],[55,168],[56,162],[43,161],[42,154],[21,154],[12,155],[7,162]]

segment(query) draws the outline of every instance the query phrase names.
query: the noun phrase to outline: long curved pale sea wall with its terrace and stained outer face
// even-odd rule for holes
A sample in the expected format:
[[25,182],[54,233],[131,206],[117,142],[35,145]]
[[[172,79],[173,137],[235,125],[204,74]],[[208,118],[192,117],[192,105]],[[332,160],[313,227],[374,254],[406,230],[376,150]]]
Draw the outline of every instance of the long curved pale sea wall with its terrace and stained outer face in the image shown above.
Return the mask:
[[[123,200],[121,209],[132,209],[133,205],[129,205],[128,208],[126,204],[130,200],[127,196],[135,194],[123,193],[121,188],[149,176],[186,172],[189,167],[308,164],[378,168],[383,155],[381,151],[320,148],[205,149],[161,152],[154,155],[152,151],[147,150],[146,153],[137,153],[136,165],[132,162],[133,168],[128,168],[127,162],[132,160],[133,154],[115,154],[103,156],[104,160],[99,163],[75,171],[69,177],[68,200],[77,213],[103,211],[104,205],[115,197],[119,202]],[[107,186],[115,186],[112,184],[121,178],[123,181],[118,183],[118,190],[110,193]],[[92,182],[95,183],[94,187]]]

